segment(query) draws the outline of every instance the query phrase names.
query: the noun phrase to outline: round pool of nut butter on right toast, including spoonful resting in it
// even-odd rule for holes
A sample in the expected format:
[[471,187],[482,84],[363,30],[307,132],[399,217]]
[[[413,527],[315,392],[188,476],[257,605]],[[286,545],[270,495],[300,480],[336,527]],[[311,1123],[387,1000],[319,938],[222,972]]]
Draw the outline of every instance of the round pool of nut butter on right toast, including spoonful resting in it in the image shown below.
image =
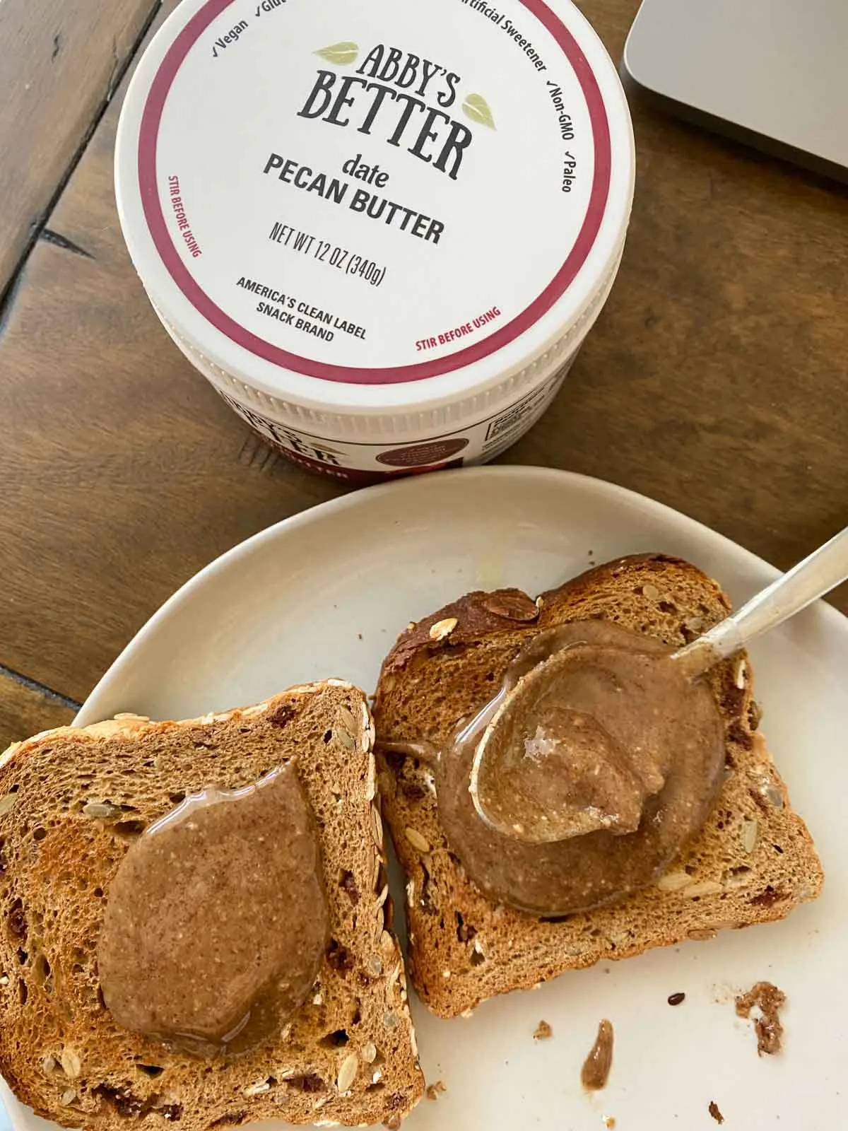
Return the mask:
[[650,884],[701,828],[724,725],[709,685],[669,656],[606,621],[540,633],[439,752],[441,824],[490,898],[588,910]]

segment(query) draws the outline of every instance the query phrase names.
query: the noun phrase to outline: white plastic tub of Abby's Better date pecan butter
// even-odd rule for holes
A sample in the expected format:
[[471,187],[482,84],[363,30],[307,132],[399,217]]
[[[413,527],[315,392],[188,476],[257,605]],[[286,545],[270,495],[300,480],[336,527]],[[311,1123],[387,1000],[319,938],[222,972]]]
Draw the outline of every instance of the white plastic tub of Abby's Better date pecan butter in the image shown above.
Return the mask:
[[491,459],[542,415],[613,284],[633,166],[568,0],[183,0],[115,155],[168,334],[349,483]]

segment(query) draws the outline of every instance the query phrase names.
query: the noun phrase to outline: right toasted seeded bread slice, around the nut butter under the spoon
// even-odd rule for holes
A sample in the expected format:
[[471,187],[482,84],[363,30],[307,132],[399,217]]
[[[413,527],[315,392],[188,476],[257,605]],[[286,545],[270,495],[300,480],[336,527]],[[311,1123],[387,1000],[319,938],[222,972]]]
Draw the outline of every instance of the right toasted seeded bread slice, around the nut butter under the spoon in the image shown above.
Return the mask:
[[451,853],[431,772],[415,758],[380,753],[381,742],[444,744],[544,629],[602,618],[676,646],[729,610],[694,566],[650,554],[599,566],[536,602],[517,589],[471,593],[398,638],[374,705],[380,792],[408,881],[409,972],[434,1013],[453,1017],[602,959],[779,920],[820,893],[821,864],[758,731],[743,655],[709,676],[725,723],[726,777],[706,827],[655,887],[594,912],[539,920],[495,907]]

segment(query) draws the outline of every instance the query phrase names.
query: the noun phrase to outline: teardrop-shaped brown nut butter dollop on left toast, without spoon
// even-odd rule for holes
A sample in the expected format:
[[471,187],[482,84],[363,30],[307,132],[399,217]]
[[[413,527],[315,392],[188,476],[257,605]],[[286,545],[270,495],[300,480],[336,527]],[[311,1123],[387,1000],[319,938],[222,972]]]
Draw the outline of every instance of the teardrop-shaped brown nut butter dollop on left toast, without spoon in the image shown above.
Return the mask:
[[130,847],[97,949],[115,1021],[198,1056],[271,1036],[329,936],[320,846],[294,762],[190,795]]

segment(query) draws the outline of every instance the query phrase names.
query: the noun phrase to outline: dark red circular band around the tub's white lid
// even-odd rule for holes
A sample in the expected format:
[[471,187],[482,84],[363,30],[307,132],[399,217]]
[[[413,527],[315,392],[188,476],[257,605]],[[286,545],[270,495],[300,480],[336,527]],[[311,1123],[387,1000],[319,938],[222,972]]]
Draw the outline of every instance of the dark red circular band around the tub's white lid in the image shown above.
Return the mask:
[[415,365],[361,369],[329,365],[326,362],[313,361],[311,357],[303,357],[300,354],[282,349],[245,329],[225,313],[217,303],[213,302],[191,275],[171,240],[157,190],[156,149],[165,101],[183,60],[209,24],[233,2],[234,0],[208,0],[208,3],[194,12],[171,44],[150,84],[138,137],[138,181],[141,207],[150,236],[168,275],[191,305],[208,322],[242,348],[295,373],[321,378],[325,381],[343,381],[349,385],[396,385],[439,377],[479,361],[482,357],[487,357],[513,342],[525,330],[534,326],[543,314],[547,313],[577,277],[597,239],[609,197],[612,145],[604,98],[589,61],[574,36],[544,0],[518,0],[518,2],[527,8],[552,34],[580,83],[591,122],[595,143],[595,171],[586,217],[577,240],[560,270],[529,307],[488,337],[481,338],[474,345],[465,346],[456,353],[418,362]]

